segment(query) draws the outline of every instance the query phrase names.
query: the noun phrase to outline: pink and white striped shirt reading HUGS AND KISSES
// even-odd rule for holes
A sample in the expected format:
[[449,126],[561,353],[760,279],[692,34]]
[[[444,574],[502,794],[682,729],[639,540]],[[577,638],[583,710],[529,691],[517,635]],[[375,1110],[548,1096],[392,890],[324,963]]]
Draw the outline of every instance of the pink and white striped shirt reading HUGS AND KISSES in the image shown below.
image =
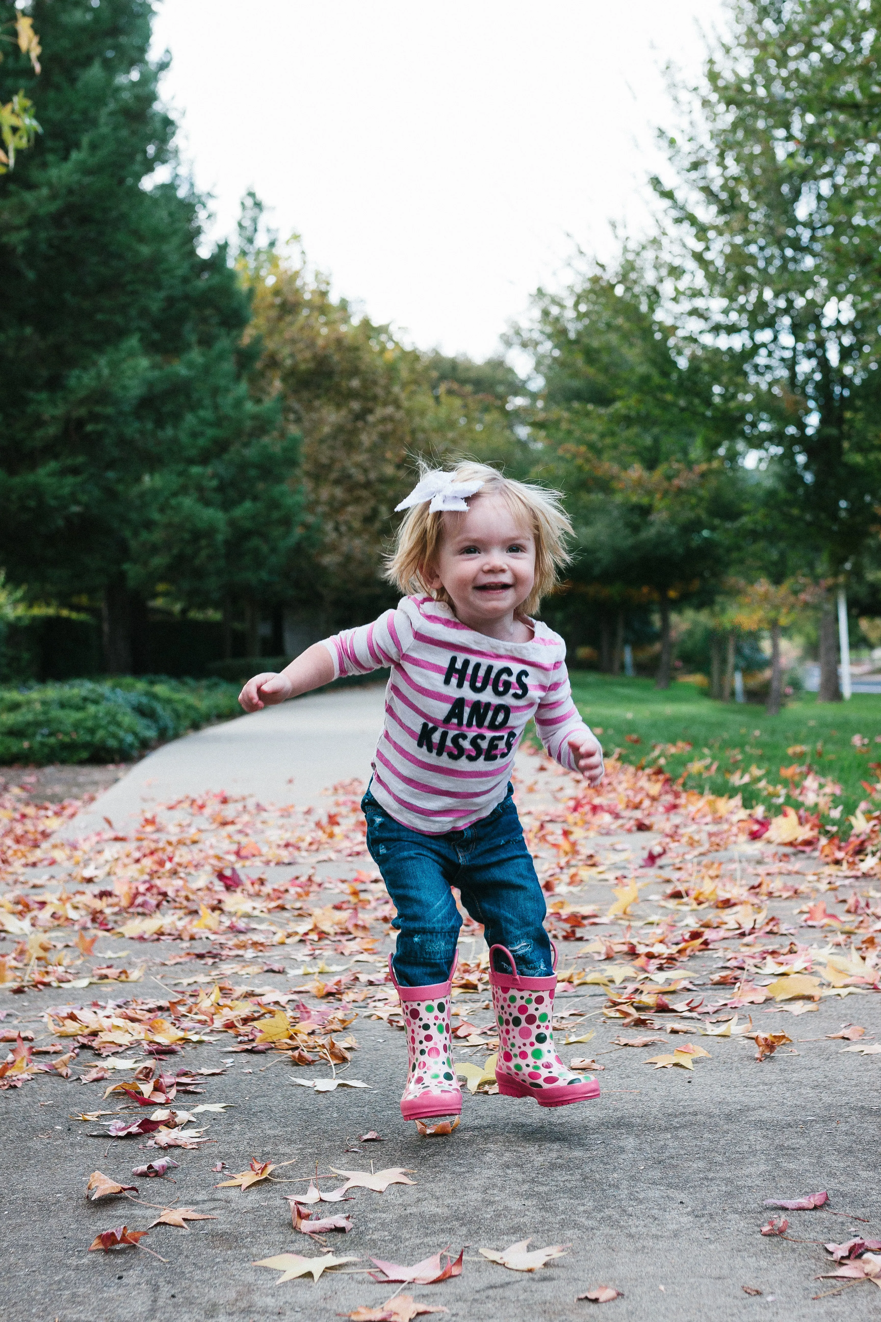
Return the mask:
[[442,602],[405,596],[372,624],[325,640],[337,677],[391,666],[371,793],[396,821],[440,836],[491,813],[530,717],[548,754],[575,769],[567,740],[586,727],[565,644],[531,624],[530,642],[501,642]]

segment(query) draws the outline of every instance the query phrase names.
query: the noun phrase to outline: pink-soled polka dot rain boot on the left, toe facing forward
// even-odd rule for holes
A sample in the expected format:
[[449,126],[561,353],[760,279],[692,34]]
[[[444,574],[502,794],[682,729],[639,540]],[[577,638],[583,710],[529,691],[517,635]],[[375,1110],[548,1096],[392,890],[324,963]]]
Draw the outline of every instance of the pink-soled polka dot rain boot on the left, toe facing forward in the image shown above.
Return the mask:
[[[458,958],[458,956],[457,956]],[[388,974],[400,997],[407,1030],[409,1073],[400,1099],[404,1120],[458,1116],[462,1093],[450,1054],[449,994],[456,960],[446,982],[425,988],[402,988],[388,957]]]

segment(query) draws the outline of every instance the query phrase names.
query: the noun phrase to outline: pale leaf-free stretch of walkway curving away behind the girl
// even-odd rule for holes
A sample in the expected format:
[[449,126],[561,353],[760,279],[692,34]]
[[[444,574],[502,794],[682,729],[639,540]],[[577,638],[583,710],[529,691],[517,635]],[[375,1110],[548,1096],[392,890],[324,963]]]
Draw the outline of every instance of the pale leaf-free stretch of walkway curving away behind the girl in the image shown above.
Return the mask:
[[382,728],[384,685],[308,694],[199,730],[149,754],[67,828],[67,838],[125,829],[145,808],[209,789],[306,808],[353,776],[365,783]]

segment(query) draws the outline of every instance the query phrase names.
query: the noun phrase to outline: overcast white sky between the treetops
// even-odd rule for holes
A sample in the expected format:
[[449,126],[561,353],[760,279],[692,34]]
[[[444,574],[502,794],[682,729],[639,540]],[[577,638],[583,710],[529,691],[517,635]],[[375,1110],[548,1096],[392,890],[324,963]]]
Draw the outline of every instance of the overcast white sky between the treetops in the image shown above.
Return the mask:
[[724,0],[161,0],[156,48],[219,234],[254,186],[334,291],[485,357],[575,245],[646,223],[667,59]]

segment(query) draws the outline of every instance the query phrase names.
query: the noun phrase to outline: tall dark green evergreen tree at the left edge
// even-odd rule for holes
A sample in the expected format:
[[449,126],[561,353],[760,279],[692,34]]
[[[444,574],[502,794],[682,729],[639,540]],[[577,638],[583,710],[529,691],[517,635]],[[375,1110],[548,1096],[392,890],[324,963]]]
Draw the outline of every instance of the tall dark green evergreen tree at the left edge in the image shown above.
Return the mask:
[[[292,443],[243,383],[247,295],[225,247],[201,251],[152,9],[33,0],[42,134],[0,182],[0,563],[100,604],[120,672],[156,576],[198,604],[271,596],[300,509]],[[24,54],[0,65],[4,89],[36,97],[33,78]]]

